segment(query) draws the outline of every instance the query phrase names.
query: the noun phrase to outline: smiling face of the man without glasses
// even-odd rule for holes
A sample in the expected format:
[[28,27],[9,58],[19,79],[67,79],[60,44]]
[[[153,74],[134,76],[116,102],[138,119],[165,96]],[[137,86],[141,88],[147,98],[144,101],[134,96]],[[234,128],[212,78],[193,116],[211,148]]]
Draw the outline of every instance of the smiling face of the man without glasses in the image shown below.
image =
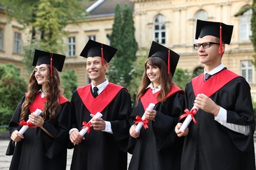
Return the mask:
[[108,68],[109,63],[104,63],[104,66],[102,66],[100,57],[88,57],[86,60],[87,74],[95,86],[106,80],[105,75]]

